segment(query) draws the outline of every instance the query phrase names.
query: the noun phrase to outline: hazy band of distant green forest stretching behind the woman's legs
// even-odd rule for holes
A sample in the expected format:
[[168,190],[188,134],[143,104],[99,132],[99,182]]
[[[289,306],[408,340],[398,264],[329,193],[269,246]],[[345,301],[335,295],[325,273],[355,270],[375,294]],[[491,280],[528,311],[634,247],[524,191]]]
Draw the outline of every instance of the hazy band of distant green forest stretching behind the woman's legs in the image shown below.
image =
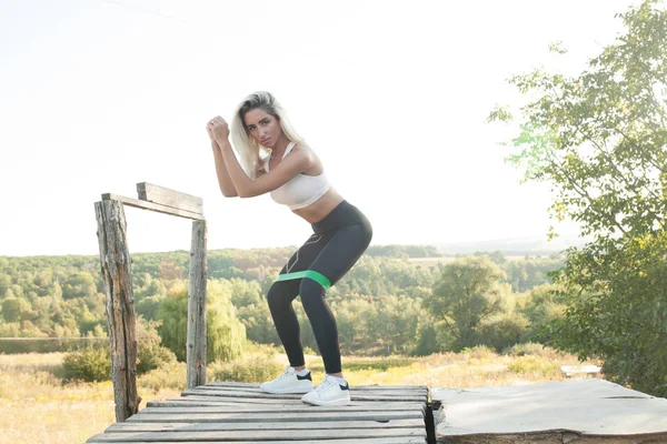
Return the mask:
[[[265,295],[293,250],[227,249],[208,253],[209,286],[216,293],[209,295],[210,301],[216,301],[216,310],[226,313],[226,319],[237,317],[249,340],[280,344]],[[341,346],[347,353],[411,353],[457,346],[442,332],[438,333],[440,340],[436,337],[441,320],[432,317],[424,304],[447,265],[409,261],[436,256],[431,246],[372,246],[329,289],[327,299],[336,312]],[[187,313],[189,252],[137,253],[131,258],[137,313],[163,325],[180,322],[183,307]],[[557,258],[506,261],[499,253],[488,255],[487,260],[501,271],[494,279],[505,285],[502,297],[507,301],[502,306],[512,313],[515,321],[516,316],[524,316],[526,306],[535,311],[526,303],[526,292],[548,283],[547,273],[560,265]],[[0,258],[0,337],[103,337],[107,335],[104,299],[99,256]],[[317,350],[300,303],[296,310],[305,345]],[[524,339],[530,330],[530,320],[521,319],[518,324]],[[180,340],[170,340],[169,329],[173,330],[163,326],[158,331],[166,345],[177,349],[173,352],[181,356]],[[429,335],[434,337],[429,340]],[[0,352],[36,346],[34,342],[30,344],[0,341]],[[57,346],[59,342],[52,344]]]

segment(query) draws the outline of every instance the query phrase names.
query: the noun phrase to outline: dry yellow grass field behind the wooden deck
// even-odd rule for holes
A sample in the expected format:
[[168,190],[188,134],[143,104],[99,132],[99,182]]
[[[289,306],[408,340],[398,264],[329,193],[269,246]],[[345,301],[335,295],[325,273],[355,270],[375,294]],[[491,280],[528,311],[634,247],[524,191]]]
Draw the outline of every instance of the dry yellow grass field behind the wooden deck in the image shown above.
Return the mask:
[[[577,365],[575,356],[532,346],[524,355],[498,355],[478,347],[466,353],[425,357],[344,356],[344,372],[355,384],[419,384],[431,387],[471,387],[563,380],[560,365]],[[0,354],[0,444],[83,443],[116,422],[111,382],[63,383],[53,375],[62,353]],[[275,357],[287,365],[287,357]],[[313,382],[323,376],[321,359],[307,356]],[[147,401],[178,397],[185,390],[186,371],[140,376],[140,408]],[[153,390],[152,387],[159,387]]]

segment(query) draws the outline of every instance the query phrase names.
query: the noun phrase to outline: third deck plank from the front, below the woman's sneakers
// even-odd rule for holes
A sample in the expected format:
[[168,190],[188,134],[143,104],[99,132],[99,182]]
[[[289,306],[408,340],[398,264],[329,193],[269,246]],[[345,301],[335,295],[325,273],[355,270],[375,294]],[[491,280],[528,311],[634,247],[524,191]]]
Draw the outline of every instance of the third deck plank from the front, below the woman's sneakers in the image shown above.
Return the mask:
[[162,423],[162,422],[197,422],[197,423],[215,423],[215,422],[285,422],[293,421],[334,421],[334,420],[356,420],[356,421],[394,421],[394,420],[410,420],[422,418],[421,412],[320,412],[317,406],[313,406],[309,413],[298,412],[266,412],[257,414],[238,413],[183,413],[183,414],[153,414],[140,413],[130,416],[128,421],[143,423]]

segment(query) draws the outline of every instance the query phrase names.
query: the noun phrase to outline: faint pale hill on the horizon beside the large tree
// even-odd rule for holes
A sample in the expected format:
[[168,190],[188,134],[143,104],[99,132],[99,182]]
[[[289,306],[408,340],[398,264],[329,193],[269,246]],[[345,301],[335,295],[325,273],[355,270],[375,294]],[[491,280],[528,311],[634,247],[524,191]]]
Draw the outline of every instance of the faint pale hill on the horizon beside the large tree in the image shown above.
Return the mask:
[[488,241],[474,241],[460,243],[434,243],[440,254],[471,254],[478,251],[494,252],[500,251],[505,255],[549,255],[564,251],[569,246],[580,248],[584,241],[574,235],[561,235],[552,241],[547,236],[527,236],[497,239]]

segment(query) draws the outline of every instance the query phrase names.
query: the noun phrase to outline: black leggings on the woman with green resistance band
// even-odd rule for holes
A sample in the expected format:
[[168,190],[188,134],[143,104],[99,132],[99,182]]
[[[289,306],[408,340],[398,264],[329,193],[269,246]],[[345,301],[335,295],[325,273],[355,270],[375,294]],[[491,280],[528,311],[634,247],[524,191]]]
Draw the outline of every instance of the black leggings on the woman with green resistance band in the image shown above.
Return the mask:
[[[312,234],[287,261],[280,274],[312,270],[338,282],[359,260],[372,238],[372,228],[366,216],[352,204],[342,201],[325,219],[313,223]],[[340,346],[334,313],[325,300],[326,289],[309,279],[273,282],[267,301],[292,367],[305,365],[299,321],[292,301],[301,295],[303,310],[312,325],[315,340],[328,374],[339,373]]]

